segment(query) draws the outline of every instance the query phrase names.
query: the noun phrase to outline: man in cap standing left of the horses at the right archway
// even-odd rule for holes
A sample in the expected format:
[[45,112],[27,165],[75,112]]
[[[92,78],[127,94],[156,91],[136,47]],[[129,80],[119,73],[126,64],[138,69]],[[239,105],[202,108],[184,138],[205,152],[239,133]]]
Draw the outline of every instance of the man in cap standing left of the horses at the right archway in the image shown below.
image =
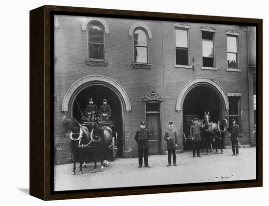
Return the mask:
[[196,150],[197,150],[197,156],[201,157],[200,156],[201,131],[202,131],[202,126],[198,124],[198,119],[194,118],[194,124],[190,128],[190,137],[192,139],[193,157],[195,157]]

